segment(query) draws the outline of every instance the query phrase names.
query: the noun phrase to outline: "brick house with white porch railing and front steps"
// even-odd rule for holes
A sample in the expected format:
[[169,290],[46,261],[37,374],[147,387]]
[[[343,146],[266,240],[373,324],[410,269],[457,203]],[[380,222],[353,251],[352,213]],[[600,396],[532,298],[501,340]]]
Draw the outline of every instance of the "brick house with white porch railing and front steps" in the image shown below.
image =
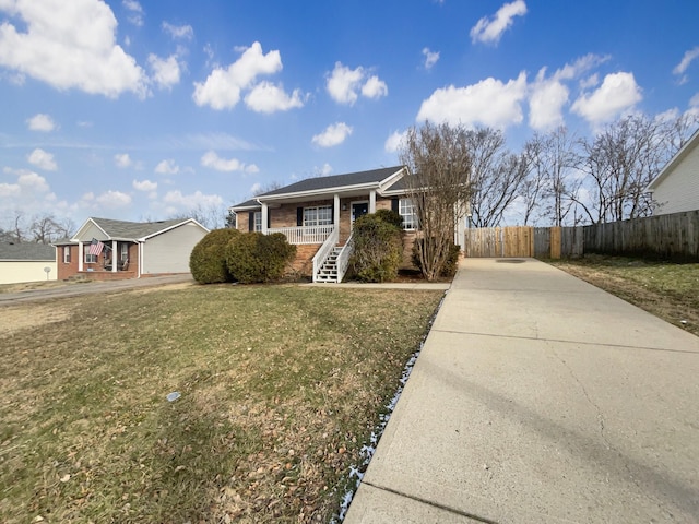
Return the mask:
[[[377,210],[403,217],[404,262],[417,231],[417,216],[406,198],[407,167],[308,178],[260,194],[230,207],[236,228],[263,234],[282,233],[297,246],[294,267],[313,282],[341,282],[352,254],[352,224]],[[463,217],[455,221],[454,242],[463,238]]]

